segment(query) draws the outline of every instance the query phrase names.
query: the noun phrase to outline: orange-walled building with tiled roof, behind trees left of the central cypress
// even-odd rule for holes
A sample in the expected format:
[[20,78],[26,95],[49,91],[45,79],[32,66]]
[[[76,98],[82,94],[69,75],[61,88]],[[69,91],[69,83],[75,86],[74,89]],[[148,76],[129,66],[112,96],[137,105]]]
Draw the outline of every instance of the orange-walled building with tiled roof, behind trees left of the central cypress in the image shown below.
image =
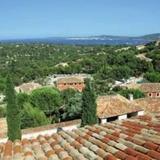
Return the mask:
[[80,77],[70,76],[70,77],[59,78],[56,81],[56,87],[59,90],[65,90],[68,88],[72,88],[72,89],[82,92],[83,88],[85,87],[85,84],[84,84],[84,79]]

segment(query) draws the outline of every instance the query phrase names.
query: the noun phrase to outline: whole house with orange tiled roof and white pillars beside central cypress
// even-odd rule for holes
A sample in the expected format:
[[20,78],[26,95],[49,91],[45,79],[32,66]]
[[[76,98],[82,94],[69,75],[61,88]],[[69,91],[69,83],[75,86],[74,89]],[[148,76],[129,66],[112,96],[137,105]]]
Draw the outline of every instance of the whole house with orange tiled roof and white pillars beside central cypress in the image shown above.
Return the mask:
[[99,96],[97,98],[97,116],[100,123],[142,115],[142,108],[121,95]]

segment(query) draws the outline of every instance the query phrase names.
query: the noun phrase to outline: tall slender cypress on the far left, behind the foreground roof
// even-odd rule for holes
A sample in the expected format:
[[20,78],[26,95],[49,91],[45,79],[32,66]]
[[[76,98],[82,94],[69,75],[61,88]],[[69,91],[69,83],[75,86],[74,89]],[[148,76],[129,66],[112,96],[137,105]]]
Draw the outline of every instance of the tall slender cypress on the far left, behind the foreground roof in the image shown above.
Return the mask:
[[6,81],[6,100],[8,138],[11,141],[21,139],[20,108],[17,105],[14,85],[9,75]]

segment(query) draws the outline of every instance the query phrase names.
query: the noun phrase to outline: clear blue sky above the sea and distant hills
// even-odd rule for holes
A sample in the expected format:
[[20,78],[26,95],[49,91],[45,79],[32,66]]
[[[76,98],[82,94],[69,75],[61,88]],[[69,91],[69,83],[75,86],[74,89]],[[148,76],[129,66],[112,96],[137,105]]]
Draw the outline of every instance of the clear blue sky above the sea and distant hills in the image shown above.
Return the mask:
[[160,33],[160,0],[0,0],[0,39]]

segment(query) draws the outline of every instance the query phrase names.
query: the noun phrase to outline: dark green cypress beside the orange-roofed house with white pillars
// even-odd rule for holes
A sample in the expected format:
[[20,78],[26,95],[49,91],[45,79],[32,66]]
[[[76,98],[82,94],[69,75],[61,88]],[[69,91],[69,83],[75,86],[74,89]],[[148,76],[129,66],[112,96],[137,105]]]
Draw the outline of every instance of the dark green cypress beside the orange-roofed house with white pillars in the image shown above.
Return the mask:
[[85,79],[85,89],[82,95],[82,117],[81,126],[97,123],[96,96],[89,79]]

